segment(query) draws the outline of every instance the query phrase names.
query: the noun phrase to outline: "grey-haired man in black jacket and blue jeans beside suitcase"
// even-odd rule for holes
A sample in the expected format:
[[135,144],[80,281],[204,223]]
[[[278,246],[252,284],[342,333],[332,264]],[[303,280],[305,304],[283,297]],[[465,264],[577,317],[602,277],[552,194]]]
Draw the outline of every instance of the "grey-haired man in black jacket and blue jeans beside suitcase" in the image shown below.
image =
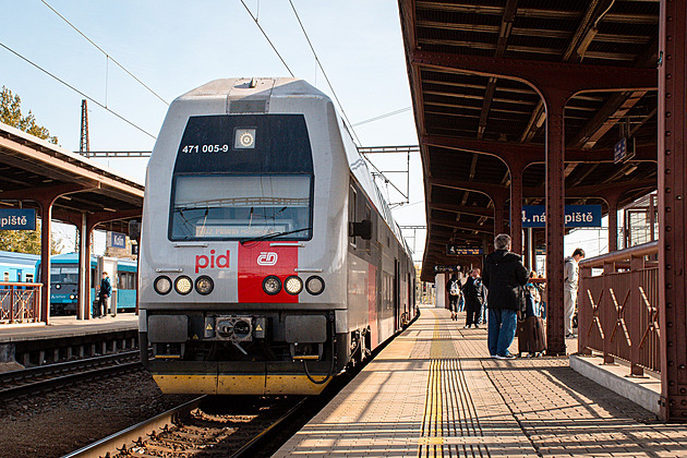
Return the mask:
[[482,282],[487,288],[487,346],[492,358],[514,359],[508,347],[515,338],[520,309],[519,288],[527,284],[529,272],[518,254],[511,253],[510,237],[494,239],[495,252],[484,260]]

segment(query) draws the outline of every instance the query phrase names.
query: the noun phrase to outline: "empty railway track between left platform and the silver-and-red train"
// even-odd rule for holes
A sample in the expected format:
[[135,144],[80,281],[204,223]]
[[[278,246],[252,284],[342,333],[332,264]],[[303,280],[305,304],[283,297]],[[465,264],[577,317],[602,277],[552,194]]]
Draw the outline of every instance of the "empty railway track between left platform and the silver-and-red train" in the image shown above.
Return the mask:
[[0,373],[3,399],[141,366],[138,350]]

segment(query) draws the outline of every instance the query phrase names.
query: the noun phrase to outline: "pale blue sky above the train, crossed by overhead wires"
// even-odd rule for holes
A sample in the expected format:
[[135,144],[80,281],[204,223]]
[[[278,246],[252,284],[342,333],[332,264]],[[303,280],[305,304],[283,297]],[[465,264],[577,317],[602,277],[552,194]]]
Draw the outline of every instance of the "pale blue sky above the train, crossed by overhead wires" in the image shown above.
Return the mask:
[[[289,2],[244,1],[293,74],[332,95]],[[240,0],[46,2],[167,101],[218,77],[289,76]],[[293,0],[293,4],[351,123],[411,106],[395,0]],[[167,105],[108,62],[45,2],[4,0],[2,10],[1,44],[157,135]],[[20,95],[23,110],[31,109],[61,146],[79,149],[82,95],[4,48],[0,48],[0,85]],[[92,101],[88,108],[92,150],[153,148],[149,135]],[[355,132],[363,146],[417,144],[410,110],[359,125]],[[406,164],[405,157],[373,160],[383,170]],[[145,160],[105,164],[144,178]],[[417,155],[411,169],[413,205],[399,207],[395,216],[401,225],[424,225]],[[423,238],[415,246],[419,260]]]

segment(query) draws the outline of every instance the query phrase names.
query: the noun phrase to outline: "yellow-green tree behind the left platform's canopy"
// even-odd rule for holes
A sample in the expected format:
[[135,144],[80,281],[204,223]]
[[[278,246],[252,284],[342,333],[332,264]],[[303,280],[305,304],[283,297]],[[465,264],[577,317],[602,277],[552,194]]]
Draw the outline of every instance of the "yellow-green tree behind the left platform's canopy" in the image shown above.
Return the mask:
[[[12,94],[12,91],[2,86],[2,92],[0,92],[0,122],[57,145],[57,136],[50,136],[50,132],[46,128],[36,124],[36,118],[31,110],[28,114],[22,114],[21,104],[22,99],[19,95]],[[61,240],[56,238],[51,238],[51,240],[50,253],[59,253]],[[0,250],[40,254],[40,226],[37,230],[0,230]]]

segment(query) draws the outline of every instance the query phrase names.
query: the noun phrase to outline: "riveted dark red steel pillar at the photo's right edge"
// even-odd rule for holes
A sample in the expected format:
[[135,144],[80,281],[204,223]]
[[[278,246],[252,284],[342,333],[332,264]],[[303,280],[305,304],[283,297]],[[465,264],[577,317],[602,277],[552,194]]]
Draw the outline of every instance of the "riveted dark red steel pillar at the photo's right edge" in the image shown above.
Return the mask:
[[659,326],[661,417],[687,420],[687,4],[661,1],[659,36]]

